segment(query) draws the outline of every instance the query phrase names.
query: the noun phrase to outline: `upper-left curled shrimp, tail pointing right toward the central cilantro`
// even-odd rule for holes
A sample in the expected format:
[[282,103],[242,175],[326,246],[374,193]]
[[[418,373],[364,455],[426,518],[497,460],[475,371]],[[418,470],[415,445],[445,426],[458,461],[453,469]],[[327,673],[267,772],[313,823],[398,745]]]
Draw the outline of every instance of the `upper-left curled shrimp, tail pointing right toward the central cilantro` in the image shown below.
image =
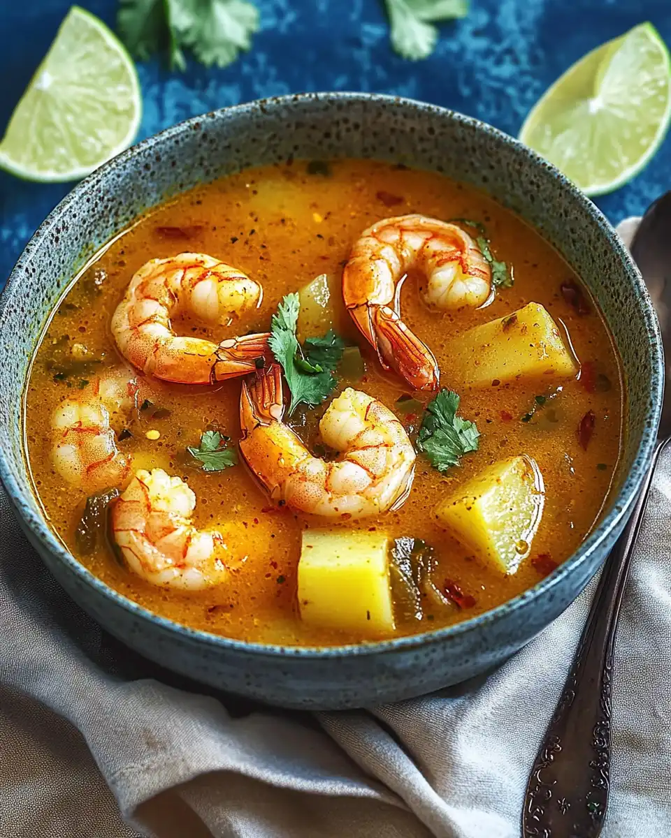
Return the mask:
[[254,369],[268,334],[214,344],[174,334],[170,317],[189,312],[212,325],[258,308],[263,289],[242,271],[205,253],[151,259],[133,276],[112,317],[123,357],[147,375],[179,384],[214,384]]

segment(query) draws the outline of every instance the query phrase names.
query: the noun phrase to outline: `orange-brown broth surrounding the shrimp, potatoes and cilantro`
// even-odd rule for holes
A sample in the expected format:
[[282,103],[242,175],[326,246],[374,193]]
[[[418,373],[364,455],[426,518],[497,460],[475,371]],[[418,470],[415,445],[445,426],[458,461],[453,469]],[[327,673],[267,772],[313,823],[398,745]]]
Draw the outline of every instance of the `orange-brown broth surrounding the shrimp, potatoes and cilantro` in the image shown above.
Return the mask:
[[[481,221],[494,256],[514,269],[514,286],[497,289],[493,303],[479,310],[429,311],[419,299],[418,277],[411,275],[404,283],[403,319],[433,350],[442,386],[451,386],[450,357],[445,351],[450,339],[530,302],[541,303],[565,328],[583,370],[589,370],[589,380],[582,374],[580,379],[550,380],[547,385],[519,382],[460,391],[460,415],[476,422],[481,432],[479,450],[466,455],[460,468],[442,474],[419,455],[413,489],[399,510],[335,526],[375,528],[392,537],[410,535],[429,542],[440,559],[441,575],[475,600],[470,607],[436,609],[422,622],[403,623],[398,634],[438,628],[504,603],[532,587],[580,546],[599,519],[615,473],[622,436],[622,382],[610,335],[595,305],[590,302],[590,311],[579,313],[575,300],[560,290],[565,282],[578,283],[578,277],[528,225],[469,186],[386,163],[337,161],[325,167],[296,161],[247,170],[154,210],[101,251],[49,323],[26,394],[29,463],[51,527],[91,572],[154,613],[195,629],[261,643],[320,646],[361,641],[345,632],[317,629],[299,618],[296,567],[301,531],[333,522],[278,508],[242,463],[204,473],[193,467],[185,452],[187,446],[198,446],[206,429],[237,441],[240,379],[213,387],[148,380],[153,405],[140,411],[139,420],[128,427],[132,436],[118,443],[135,455],[134,468],[164,468],[186,479],[197,499],[195,525],[218,527],[229,541],[238,566],[228,584],[209,591],[153,587],[122,566],[109,545],[98,546],[91,555],[78,550],[75,527],[86,492],[73,489],[55,473],[49,416],[96,370],[118,365],[110,333],[112,313],[133,273],[148,259],[203,252],[263,283],[262,306],[230,328],[213,330],[185,320],[174,323],[178,334],[221,340],[267,330],[283,295],[322,273],[340,277],[362,230],[376,220],[408,213]],[[585,298],[589,299],[586,292]],[[394,410],[398,397],[408,392],[407,385],[382,373],[349,317],[338,318],[335,328],[361,348],[366,373],[361,381],[341,378],[333,395],[351,385]],[[85,358],[102,362],[64,378],[55,373],[59,369],[55,359],[73,344],[86,349]],[[557,384],[563,385],[563,391],[553,401],[554,422],[547,416],[542,422],[524,422],[535,397],[549,395]],[[429,397],[420,396],[424,403]],[[292,417],[290,423],[310,444],[329,402],[315,411],[299,408]],[[577,428],[587,411],[593,411],[595,427],[585,450]],[[420,417],[398,415],[412,435]],[[145,434],[150,430],[158,431],[159,438],[148,439]],[[531,555],[517,573],[502,577],[484,569],[445,535],[429,511],[489,464],[517,454],[537,461],[544,477],[545,509]]]

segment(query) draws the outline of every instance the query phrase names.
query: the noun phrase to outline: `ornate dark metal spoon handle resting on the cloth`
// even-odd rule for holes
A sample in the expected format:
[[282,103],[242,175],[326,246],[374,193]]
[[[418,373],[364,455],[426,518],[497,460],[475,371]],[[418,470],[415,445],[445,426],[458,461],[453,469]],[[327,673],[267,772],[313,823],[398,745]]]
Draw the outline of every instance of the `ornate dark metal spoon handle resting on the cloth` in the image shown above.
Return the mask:
[[632,516],[611,550],[559,704],[529,776],[524,838],[596,838],[611,772],[611,674],[617,617],[641,528],[659,442]]

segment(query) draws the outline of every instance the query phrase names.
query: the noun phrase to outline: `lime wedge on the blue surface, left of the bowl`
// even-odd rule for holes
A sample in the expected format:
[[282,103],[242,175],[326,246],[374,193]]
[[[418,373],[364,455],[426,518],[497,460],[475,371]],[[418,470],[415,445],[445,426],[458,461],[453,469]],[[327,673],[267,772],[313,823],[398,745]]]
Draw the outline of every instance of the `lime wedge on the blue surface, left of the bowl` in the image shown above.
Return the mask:
[[98,18],[70,8],[0,142],[0,168],[42,182],[83,178],[133,142],[133,60]]

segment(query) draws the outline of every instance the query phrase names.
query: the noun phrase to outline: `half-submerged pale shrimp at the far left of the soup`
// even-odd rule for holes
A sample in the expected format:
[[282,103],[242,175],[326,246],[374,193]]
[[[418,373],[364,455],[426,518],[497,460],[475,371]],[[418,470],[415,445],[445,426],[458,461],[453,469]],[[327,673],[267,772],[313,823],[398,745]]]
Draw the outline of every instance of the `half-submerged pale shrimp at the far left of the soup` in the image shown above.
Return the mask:
[[117,368],[96,376],[55,407],[52,455],[67,483],[96,491],[127,478],[130,459],[117,448],[112,419],[137,408],[139,390],[138,380]]

